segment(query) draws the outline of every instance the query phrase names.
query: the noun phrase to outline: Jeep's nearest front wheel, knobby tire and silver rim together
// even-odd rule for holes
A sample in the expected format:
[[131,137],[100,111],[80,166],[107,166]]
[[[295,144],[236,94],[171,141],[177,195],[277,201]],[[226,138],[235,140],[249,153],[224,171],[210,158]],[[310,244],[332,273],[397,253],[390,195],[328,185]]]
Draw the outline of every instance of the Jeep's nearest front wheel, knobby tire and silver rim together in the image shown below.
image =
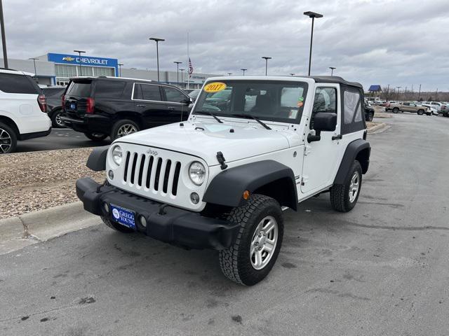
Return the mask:
[[281,207],[271,197],[255,194],[227,219],[241,227],[234,245],[220,251],[220,267],[228,279],[253,286],[269,274],[278,258],[283,239]]

